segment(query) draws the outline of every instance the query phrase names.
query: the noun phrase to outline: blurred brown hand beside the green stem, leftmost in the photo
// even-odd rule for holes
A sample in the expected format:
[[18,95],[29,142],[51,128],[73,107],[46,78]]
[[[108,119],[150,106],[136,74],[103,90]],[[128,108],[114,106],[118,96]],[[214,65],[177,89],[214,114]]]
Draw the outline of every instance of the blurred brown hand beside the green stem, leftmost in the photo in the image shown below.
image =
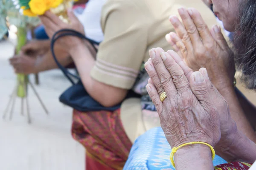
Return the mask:
[[29,57],[25,54],[20,54],[12,57],[10,64],[13,66],[15,73],[32,74],[36,73],[36,58]]

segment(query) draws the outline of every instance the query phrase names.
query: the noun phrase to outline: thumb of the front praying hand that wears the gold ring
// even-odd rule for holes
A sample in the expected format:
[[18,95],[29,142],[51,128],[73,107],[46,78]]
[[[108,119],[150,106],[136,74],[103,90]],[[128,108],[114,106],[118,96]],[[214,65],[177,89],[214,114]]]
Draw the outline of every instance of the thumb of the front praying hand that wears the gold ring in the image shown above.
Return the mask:
[[209,105],[209,93],[203,74],[201,74],[199,71],[195,71],[190,76],[189,83],[192,92],[194,93],[198,101],[202,104],[202,106],[204,107]]

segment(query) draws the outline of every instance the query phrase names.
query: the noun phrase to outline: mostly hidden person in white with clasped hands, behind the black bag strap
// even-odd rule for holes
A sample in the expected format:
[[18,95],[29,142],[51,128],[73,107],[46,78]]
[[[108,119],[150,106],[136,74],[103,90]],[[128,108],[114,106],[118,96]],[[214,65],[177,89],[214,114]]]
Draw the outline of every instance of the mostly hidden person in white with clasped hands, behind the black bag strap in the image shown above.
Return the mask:
[[[103,1],[104,0],[90,0],[83,13],[76,15],[84,26],[86,36],[97,42],[101,42],[103,40],[103,33],[100,27],[100,15]],[[78,5],[85,2],[87,2],[87,0],[79,0]],[[38,29],[42,29],[44,31],[44,26]],[[14,67],[16,73],[35,74],[41,71],[58,68],[52,57],[50,40],[38,37],[37,39],[40,40],[28,42],[22,48],[21,54],[10,59],[10,63]],[[58,44],[55,46],[55,53],[57,54],[59,62],[67,68],[73,68],[73,60],[69,57],[68,52]]]

